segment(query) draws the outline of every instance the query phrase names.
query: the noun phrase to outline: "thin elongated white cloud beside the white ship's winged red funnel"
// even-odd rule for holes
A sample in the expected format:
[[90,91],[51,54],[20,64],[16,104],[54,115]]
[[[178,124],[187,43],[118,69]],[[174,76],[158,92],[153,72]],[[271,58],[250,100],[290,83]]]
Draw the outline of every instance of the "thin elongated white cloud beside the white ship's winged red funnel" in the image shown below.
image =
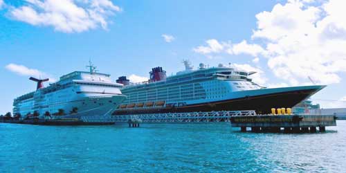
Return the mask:
[[51,78],[51,75],[47,75],[46,73],[39,71],[37,69],[29,69],[28,67],[23,65],[11,63],[6,65],[5,68],[8,69],[8,71],[17,73],[18,75],[30,76],[34,78],[49,78],[50,82],[56,81],[54,78]]

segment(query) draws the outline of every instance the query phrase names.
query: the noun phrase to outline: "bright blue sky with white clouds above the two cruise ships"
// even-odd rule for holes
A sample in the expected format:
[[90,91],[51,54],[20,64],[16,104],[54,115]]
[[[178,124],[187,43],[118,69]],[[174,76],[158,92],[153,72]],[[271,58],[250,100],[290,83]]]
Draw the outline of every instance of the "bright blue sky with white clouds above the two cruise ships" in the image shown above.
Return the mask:
[[[329,85],[313,97],[315,102],[343,107],[346,53],[338,46],[345,49],[346,38],[339,36],[346,24],[336,22],[342,10],[329,13],[342,3],[332,1],[0,0],[0,110],[10,111],[15,97],[35,89],[30,75],[58,79],[86,70],[89,59],[114,80],[120,75],[147,77],[154,66],[176,73],[183,70],[183,59],[194,66],[231,62],[257,70],[257,82],[271,87],[311,84],[309,76]],[[297,30],[306,31],[307,38]],[[323,31],[318,38],[328,43],[318,44],[322,47],[313,44],[316,35],[310,36],[318,30]],[[291,42],[302,42],[298,45],[304,48],[291,48]],[[321,48],[329,50],[327,56],[314,51]]]

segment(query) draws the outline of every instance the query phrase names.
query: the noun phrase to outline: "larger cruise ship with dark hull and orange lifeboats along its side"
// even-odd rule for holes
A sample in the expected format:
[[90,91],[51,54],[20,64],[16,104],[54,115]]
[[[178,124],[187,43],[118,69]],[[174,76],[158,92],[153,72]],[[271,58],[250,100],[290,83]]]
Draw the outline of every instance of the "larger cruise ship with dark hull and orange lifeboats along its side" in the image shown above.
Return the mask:
[[162,67],[149,72],[149,80],[132,84],[125,76],[116,82],[124,84],[121,91],[127,99],[113,115],[178,113],[194,111],[255,110],[269,113],[271,108],[291,108],[325,86],[293,86],[267,89],[251,79],[253,71],[239,71],[219,64],[199,64],[194,70],[183,61],[185,71],[166,76]]

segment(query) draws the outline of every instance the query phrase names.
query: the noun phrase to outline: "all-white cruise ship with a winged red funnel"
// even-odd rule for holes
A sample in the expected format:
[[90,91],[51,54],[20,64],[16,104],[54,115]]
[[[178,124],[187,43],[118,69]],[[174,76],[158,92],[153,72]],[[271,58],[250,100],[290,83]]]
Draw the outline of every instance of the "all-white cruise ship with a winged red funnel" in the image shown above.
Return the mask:
[[37,89],[14,100],[13,114],[21,118],[82,118],[113,113],[126,98],[120,91],[122,84],[111,82],[110,75],[97,73],[89,63],[89,72],[74,71],[47,87],[43,82],[48,79],[30,78],[37,82]]

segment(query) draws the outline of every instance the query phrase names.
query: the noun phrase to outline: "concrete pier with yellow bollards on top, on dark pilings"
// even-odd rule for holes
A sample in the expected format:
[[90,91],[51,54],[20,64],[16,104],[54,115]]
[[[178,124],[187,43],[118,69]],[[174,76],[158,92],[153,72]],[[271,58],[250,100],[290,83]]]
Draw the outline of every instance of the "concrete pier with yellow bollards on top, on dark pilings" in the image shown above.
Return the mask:
[[[246,127],[251,127],[251,132],[270,133],[316,133],[325,132],[325,127],[336,126],[336,116],[332,115],[282,115],[282,116],[233,116],[230,118],[232,127],[241,127],[246,132]],[[283,128],[283,131],[282,131]]]

